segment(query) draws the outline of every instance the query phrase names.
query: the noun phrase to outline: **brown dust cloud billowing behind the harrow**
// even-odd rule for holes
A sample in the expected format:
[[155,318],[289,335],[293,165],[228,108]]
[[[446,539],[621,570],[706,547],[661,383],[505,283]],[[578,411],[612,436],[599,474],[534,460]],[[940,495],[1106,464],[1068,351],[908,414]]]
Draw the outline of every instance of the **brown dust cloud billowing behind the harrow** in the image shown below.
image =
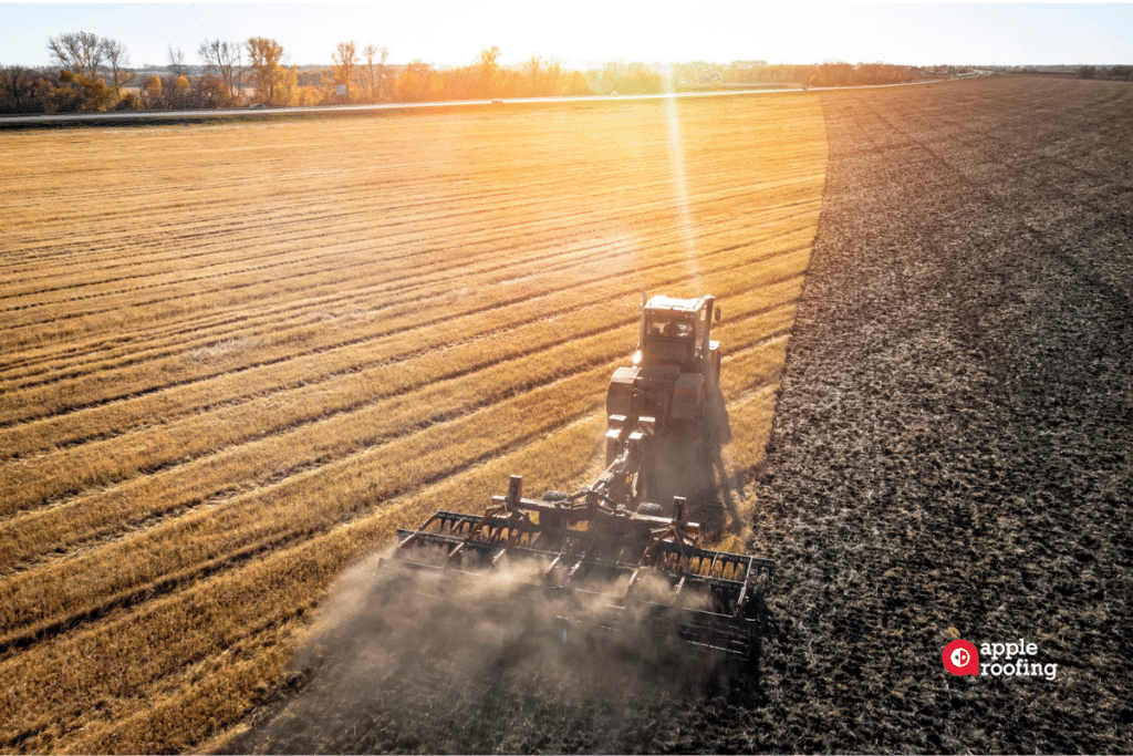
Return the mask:
[[604,629],[605,602],[548,594],[523,568],[466,579],[378,562],[340,577],[296,656],[303,691],[230,749],[632,753],[717,670],[655,638],[656,618]]

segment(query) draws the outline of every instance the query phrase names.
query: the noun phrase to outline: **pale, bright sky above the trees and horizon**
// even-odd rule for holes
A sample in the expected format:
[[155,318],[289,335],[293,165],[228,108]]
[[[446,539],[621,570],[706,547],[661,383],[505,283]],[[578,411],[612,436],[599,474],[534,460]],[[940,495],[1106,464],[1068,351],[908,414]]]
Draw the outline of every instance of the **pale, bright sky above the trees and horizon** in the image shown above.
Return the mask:
[[169,45],[199,62],[206,39],[272,37],[288,65],[330,65],[339,42],[386,46],[390,62],[469,65],[497,45],[505,65],[555,56],[568,68],[642,62],[1133,63],[1133,3],[0,2],[0,65],[46,66],[48,40],[91,32],[130,65]]

